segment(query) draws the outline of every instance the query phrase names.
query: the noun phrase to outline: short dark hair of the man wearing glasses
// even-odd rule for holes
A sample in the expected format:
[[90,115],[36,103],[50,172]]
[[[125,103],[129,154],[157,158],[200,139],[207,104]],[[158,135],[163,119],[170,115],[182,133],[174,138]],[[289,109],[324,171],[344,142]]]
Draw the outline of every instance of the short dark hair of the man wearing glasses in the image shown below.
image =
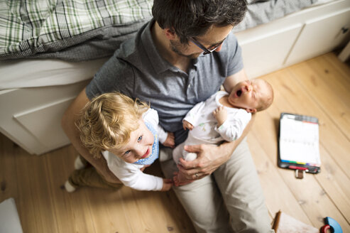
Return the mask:
[[154,0],[152,14],[160,28],[169,28],[181,43],[204,35],[210,26],[236,26],[244,18],[246,0]]

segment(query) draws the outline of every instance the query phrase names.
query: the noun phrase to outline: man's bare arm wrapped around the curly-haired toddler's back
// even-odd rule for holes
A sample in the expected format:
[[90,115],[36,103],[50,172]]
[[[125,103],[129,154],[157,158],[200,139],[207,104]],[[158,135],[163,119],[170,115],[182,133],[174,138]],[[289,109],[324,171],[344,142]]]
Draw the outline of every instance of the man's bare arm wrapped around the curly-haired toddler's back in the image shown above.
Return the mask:
[[106,181],[110,183],[120,183],[119,179],[111,173],[109,170],[106,159],[101,156],[100,158],[95,159],[89,150],[82,146],[80,141],[80,133],[75,126],[75,121],[77,120],[77,116],[80,114],[82,108],[89,102],[87,95],[85,94],[85,88],[80,92],[80,94],[75,98],[75,100],[70,104],[70,107],[67,108],[65,114],[62,116],[62,129],[65,131],[65,134],[68,136],[70,141],[72,142],[75,149],[83,156],[89,163],[96,168],[99,173],[101,173]]

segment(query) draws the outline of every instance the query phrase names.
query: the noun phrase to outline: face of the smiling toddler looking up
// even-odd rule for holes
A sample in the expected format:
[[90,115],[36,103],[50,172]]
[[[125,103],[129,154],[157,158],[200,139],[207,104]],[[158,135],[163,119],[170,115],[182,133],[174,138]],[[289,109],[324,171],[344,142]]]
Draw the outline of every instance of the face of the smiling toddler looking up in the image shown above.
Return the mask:
[[131,132],[130,139],[126,145],[118,150],[109,150],[126,161],[126,163],[135,163],[139,159],[147,158],[152,154],[153,134],[149,131],[143,119],[138,121],[138,125],[138,129]]

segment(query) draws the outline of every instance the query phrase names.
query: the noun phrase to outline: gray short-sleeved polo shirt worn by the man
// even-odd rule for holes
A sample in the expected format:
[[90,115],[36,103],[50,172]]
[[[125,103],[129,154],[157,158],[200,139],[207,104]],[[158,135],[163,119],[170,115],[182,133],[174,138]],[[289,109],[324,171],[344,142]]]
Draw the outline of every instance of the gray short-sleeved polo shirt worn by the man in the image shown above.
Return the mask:
[[227,76],[243,68],[241,48],[230,33],[220,52],[199,55],[186,73],[158,53],[151,37],[153,23],[146,23],[135,38],[121,44],[94,75],[86,94],[92,99],[106,92],[121,92],[150,102],[158,111],[160,125],[174,132],[178,144],[187,137],[182,129],[185,114],[217,92]]

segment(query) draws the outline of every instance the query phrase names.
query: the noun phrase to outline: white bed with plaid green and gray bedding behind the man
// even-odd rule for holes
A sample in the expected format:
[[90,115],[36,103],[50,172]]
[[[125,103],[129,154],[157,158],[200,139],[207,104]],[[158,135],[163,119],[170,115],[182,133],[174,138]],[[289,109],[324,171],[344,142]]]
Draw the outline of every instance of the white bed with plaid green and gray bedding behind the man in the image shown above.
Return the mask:
[[[350,1],[248,3],[233,33],[250,78],[349,41]],[[1,133],[38,155],[70,143],[60,128],[63,112],[119,44],[151,18],[151,6],[151,0],[1,1]]]

